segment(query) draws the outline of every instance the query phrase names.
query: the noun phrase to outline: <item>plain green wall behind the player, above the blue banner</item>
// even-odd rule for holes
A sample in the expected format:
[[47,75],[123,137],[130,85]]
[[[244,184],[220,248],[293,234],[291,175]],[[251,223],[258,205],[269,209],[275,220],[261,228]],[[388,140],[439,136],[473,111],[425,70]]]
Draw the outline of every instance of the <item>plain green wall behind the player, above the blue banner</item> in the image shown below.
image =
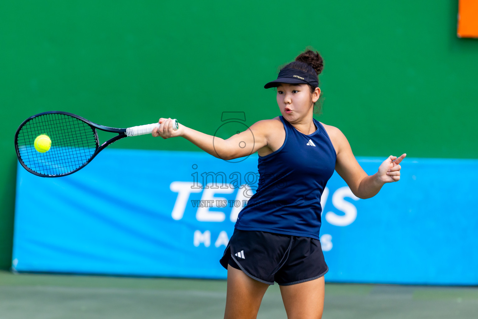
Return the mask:
[[[279,114],[262,86],[307,45],[325,60],[319,120],[355,155],[478,158],[478,40],[456,37],[456,14],[456,0],[0,2],[0,268],[11,263],[24,119],[171,117],[213,134],[232,110],[252,124]],[[111,147],[199,151],[149,136]]]

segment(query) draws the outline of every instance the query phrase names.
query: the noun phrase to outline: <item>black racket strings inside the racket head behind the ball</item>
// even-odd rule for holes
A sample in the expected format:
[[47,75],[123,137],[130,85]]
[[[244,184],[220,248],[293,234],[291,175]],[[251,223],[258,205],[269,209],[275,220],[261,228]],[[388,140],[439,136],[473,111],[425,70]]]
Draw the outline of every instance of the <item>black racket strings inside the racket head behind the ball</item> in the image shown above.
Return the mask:
[[[35,138],[45,134],[50,150],[40,153]],[[49,113],[26,122],[18,133],[17,146],[24,165],[43,175],[62,175],[85,165],[97,150],[94,129],[75,117]]]

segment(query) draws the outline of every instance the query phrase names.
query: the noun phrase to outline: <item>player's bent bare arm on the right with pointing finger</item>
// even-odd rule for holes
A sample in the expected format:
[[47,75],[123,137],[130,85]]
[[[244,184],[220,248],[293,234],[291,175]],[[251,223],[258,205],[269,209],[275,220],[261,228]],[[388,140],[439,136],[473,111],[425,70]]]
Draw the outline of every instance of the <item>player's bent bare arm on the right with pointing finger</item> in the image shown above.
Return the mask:
[[407,154],[402,154],[398,158],[389,156],[380,165],[378,172],[369,176],[355,159],[345,135],[339,129],[334,128],[334,136],[338,144],[335,170],[345,180],[355,196],[359,198],[373,197],[385,183],[400,180],[400,169],[402,168],[400,162]]

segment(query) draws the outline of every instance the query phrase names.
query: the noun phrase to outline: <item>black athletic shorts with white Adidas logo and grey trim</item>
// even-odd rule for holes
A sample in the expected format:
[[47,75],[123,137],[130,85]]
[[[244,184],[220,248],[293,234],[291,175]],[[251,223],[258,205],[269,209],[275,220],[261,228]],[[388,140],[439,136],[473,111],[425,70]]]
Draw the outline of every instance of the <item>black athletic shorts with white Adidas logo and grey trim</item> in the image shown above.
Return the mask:
[[219,262],[269,285],[299,284],[328,271],[318,239],[267,231],[234,229]]

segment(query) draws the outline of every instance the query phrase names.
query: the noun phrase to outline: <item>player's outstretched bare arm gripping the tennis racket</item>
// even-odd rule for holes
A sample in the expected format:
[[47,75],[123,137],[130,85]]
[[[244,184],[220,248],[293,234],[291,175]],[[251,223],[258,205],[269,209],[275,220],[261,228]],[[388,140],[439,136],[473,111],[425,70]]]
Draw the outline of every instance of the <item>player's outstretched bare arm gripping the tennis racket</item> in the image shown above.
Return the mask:
[[248,130],[234,134],[227,140],[193,130],[181,124],[178,130],[174,131],[170,119],[162,118],[159,122],[164,122],[164,125],[161,125],[159,130],[153,130],[152,136],[163,138],[182,136],[207,153],[224,160],[248,156],[267,145],[266,121],[258,121],[252,124]]

